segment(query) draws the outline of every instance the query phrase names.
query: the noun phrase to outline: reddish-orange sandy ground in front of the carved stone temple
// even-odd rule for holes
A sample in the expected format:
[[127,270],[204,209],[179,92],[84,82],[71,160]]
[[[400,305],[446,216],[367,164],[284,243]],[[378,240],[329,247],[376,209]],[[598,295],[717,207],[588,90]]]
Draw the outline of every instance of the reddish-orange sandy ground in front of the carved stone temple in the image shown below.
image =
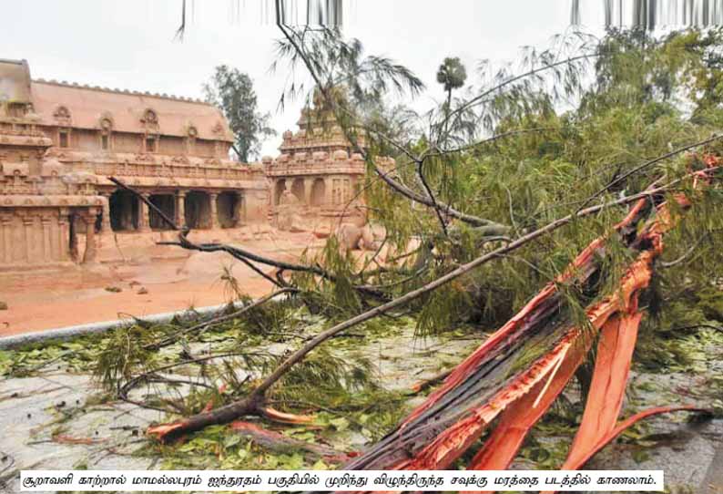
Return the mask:
[[[315,240],[310,233],[275,235],[272,242],[240,244],[273,259],[293,261]],[[0,302],[8,306],[0,311],[0,336],[110,321],[123,314],[142,316],[223,304],[229,300],[220,280],[225,266],[233,266],[241,289],[250,296],[271,288],[259,274],[223,252],[189,253],[167,246],[160,254],[91,267],[0,273]],[[265,271],[273,270],[267,267]]]

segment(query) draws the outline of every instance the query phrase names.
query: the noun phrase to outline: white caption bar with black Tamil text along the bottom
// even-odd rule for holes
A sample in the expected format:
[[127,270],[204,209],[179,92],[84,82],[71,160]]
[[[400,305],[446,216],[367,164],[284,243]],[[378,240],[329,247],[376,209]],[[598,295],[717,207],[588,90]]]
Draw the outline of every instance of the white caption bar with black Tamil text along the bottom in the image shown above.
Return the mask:
[[659,492],[663,470],[23,470],[25,491],[361,491]]

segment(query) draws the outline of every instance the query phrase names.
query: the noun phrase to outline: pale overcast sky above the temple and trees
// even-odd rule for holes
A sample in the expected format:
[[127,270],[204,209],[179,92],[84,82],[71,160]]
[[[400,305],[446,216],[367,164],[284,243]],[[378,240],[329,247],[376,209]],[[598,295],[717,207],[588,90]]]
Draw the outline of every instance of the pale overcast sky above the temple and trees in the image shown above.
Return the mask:
[[[565,31],[569,0],[347,0],[344,32],[366,53],[410,67],[428,87],[415,107],[440,98],[434,76],[444,57],[460,57],[472,73],[478,60],[504,61],[522,46],[546,46]],[[351,3],[350,3],[351,2]],[[174,40],[181,0],[0,0],[0,58],[25,58],[32,76],[104,87],[201,98],[220,64],[254,80],[260,109],[279,136],[295,129],[300,103],[280,112],[287,74],[271,74],[275,26],[263,22],[260,0],[189,0],[188,28]],[[240,11],[240,12],[239,12]]]

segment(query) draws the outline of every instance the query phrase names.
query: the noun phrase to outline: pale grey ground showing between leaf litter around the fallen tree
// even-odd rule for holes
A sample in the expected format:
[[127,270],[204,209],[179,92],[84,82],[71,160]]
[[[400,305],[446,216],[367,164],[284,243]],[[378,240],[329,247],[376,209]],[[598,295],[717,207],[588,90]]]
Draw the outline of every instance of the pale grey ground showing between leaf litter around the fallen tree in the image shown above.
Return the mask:
[[[346,351],[351,352],[349,356],[371,358],[379,367],[383,386],[402,389],[461,361],[484,339],[480,334],[479,338],[420,340],[413,337],[412,331],[410,328],[402,334],[365,340],[363,345]],[[287,348],[285,344],[269,346],[273,353],[283,353]],[[660,386],[636,396],[635,406],[669,403],[676,396],[666,390],[693,386],[695,380],[695,376],[683,374],[636,374],[634,383],[645,381]],[[5,462],[0,463],[0,479],[5,476],[6,480],[0,492],[18,492],[18,472],[24,468],[158,468],[154,458],[134,456],[132,452],[145,440],[142,431],[161,419],[160,414],[124,403],[89,405],[87,398],[97,391],[90,376],[67,374],[58,368],[48,369],[43,376],[0,381],[0,452],[5,457]],[[420,399],[417,396],[412,401]],[[78,408],[85,411],[76,416]],[[63,420],[63,436],[53,438],[54,423],[61,417],[68,417]],[[723,492],[723,419],[687,423],[683,418],[666,416],[648,421],[646,435],[660,440],[646,448],[644,461],[636,461],[633,448],[618,441],[605,448],[587,468],[663,469],[672,494]],[[563,440],[568,444],[568,439]],[[350,445],[363,446],[363,442]],[[526,468],[524,464],[516,466]]]

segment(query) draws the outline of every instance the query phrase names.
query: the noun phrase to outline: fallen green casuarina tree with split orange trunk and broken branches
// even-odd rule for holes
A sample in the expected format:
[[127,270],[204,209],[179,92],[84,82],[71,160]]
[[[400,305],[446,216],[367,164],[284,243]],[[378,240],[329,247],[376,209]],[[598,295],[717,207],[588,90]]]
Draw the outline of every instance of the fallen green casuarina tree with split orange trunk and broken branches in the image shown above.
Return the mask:
[[[539,286],[549,282],[465,363],[448,376],[434,376],[422,383],[420,387],[433,386],[444,379],[423,407],[361,457],[353,458],[346,468],[445,468],[460,458],[493,419],[499,419],[499,424],[470,468],[505,468],[527,431],[543,417],[599,338],[598,346],[604,343],[606,349],[615,350],[601,348],[598,352],[599,369],[592,387],[614,383],[606,387],[606,396],[615,399],[606,402],[604,417],[586,412],[593,418],[584,419],[569,464],[589,458],[615,437],[619,427],[629,423],[616,426],[615,420],[640,316],[645,311],[645,304],[638,309],[638,301],[641,293],[648,291],[654,263],[661,253],[663,230],[672,226],[661,218],[668,208],[677,218],[677,209],[682,207],[673,202],[661,208],[661,204],[674,193],[687,193],[696,200],[691,192],[693,184],[702,178],[718,178],[719,170],[709,157],[684,157],[687,151],[698,148],[719,154],[720,138],[715,134],[707,137],[718,128],[670,117],[669,108],[650,100],[650,94],[657,93],[647,87],[640,87],[639,94],[632,91],[633,98],[627,91],[620,96],[616,84],[636,87],[639,82],[637,74],[618,74],[625,70],[619,70],[616,57],[628,57],[636,48],[635,43],[632,48],[627,46],[629,39],[621,35],[608,41],[630,48],[620,49],[622,55],[608,57],[605,43],[593,52],[568,59],[555,58],[555,50],[549,50],[534,57],[523,74],[500,71],[492,84],[480,88],[472,98],[453,98],[452,90],[448,90],[445,103],[431,112],[429,131],[416,141],[402,143],[388,128],[370,122],[368,115],[356,108],[364,109],[370,99],[378,98],[385,83],[395,87],[408,83],[414,92],[419,87],[414,77],[389,60],[363,58],[361,46],[343,42],[339,33],[280,27],[285,37],[280,54],[290,58],[292,67],[298,63],[311,73],[314,90],[310,92],[320,119],[333,114],[351,141],[351,149],[366,159],[369,173],[360,193],[368,192],[370,215],[384,227],[385,242],[388,240],[396,252],[386,262],[378,261],[375,254],[360,270],[355,259],[338,256],[330,242],[324,252],[330,254],[328,257],[279,262],[237,245],[193,242],[187,230],[167,219],[178,231],[178,240],[168,243],[198,252],[226,252],[273,283],[277,292],[255,303],[249,300],[235,315],[227,314],[216,321],[174,328],[172,332],[158,328],[137,332],[134,335],[144,339],[139,350],[126,340],[109,345],[110,356],[124,346],[138,352],[133,355],[133,365],[127,365],[126,357],[107,365],[116,369],[107,383],[117,386],[122,398],[148,406],[130,397],[141,384],[165,380],[193,386],[188,379],[168,376],[180,365],[203,369],[210,361],[226,359],[226,376],[233,381],[236,376],[230,371],[248,364],[233,359],[256,355],[245,353],[243,345],[238,352],[228,354],[191,355],[188,343],[213,324],[245,321],[251,314],[270,311],[274,305],[271,299],[286,294],[310,312],[326,315],[328,324],[325,322],[316,334],[284,334],[299,338],[299,345],[270,359],[269,365],[255,367],[242,386],[229,386],[234,388],[231,392],[216,393],[218,383],[203,376],[206,380],[197,385],[216,393],[214,399],[202,406],[159,407],[172,412],[174,420],[148,428],[148,434],[170,441],[244,417],[302,423],[309,417],[289,415],[300,410],[290,407],[290,401],[274,399],[273,394],[283,389],[290,373],[319,356],[321,345],[331,338],[378,317],[397,317],[402,311],[418,320],[420,334],[429,328],[441,331],[464,317],[472,319],[475,311],[482,312],[483,304],[493,305],[495,311],[504,314],[499,321],[493,317],[485,320],[494,320],[492,327],[497,327],[514,314],[512,307],[520,305],[514,298],[529,301]],[[642,45],[647,46],[648,41],[643,40]],[[542,77],[554,74],[556,79],[552,79],[565,80],[561,86],[568,87],[569,83],[575,87],[575,77],[579,76],[575,64],[598,57],[599,86],[586,93],[585,104],[574,115],[556,115],[551,105],[555,98],[549,95]],[[623,65],[643,67],[657,75],[657,60],[646,57],[643,64],[624,60]],[[675,73],[683,73],[677,64],[677,60],[669,62]],[[572,72],[566,73],[570,67]],[[650,78],[666,87],[665,80]],[[530,79],[533,82],[524,82]],[[467,133],[465,129],[470,126],[487,126],[494,130],[493,137],[479,139]],[[640,128],[647,134],[641,136]],[[366,145],[360,143],[360,136]],[[397,158],[392,170],[376,166],[375,158],[384,153],[394,153]],[[693,171],[702,162],[709,165],[705,177]],[[115,181],[125,187],[120,180]],[[718,184],[701,190],[718,190]],[[699,202],[715,202],[710,199]],[[621,208],[628,205],[633,206],[626,220],[613,227]],[[148,206],[155,209],[149,202]],[[705,216],[715,211],[719,209],[701,208],[699,214],[688,215],[679,228],[666,232],[668,243],[673,244],[672,249],[668,245],[668,252],[676,256],[675,261],[667,262],[673,270],[685,268],[700,252],[704,257],[711,253],[705,243],[700,252],[690,248],[687,237],[677,236],[677,231],[686,231],[688,237],[699,232],[700,239],[712,239],[719,221]],[[163,217],[161,211],[156,212]],[[657,231],[661,225],[666,228]],[[589,243],[596,235],[602,236]],[[676,242],[671,242],[674,238]],[[415,246],[410,248],[413,242]],[[578,254],[585,245],[587,248]],[[557,275],[570,260],[565,273]],[[659,266],[665,264],[660,262]],[[274,271],[266,272],[267,268]],[[461,299],[469,302],[448,304],[449,300]],[[363,338],[364,334],[356,336]],[[178,362],[143,362],[152,352],[175,344],[181,346]],[[321,379],[310,383],[321,384]],[[590,399],[588,410],[600,408],[599,393],[591,394]],[[278,405],[280,412],[270,408],[272,404]],[[316,405],[311,409],[320,409]],[[639,417],[647,415],[641,413]],[[599,426],[590,427],[593,422]],[[271,434],[262,440],[274,448],[288,446],[275,445],[276,439],[279,437]]]

